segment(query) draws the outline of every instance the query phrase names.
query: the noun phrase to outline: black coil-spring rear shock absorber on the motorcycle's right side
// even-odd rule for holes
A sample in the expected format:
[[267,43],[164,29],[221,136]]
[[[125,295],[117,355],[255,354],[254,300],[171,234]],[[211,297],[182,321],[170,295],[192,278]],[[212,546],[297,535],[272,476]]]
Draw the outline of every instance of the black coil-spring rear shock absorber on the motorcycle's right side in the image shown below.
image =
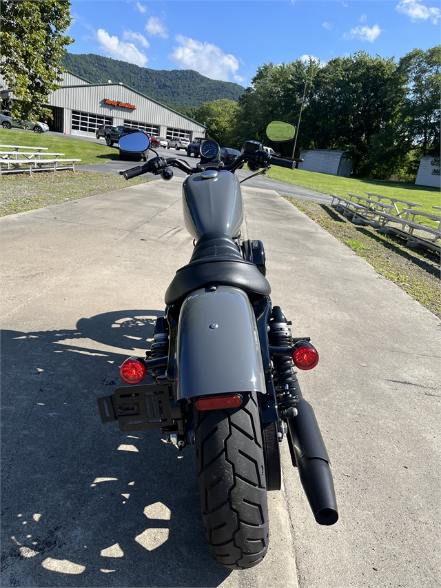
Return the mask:
[[[289,323],[291,324],[291,323]],[[276,347],[291,347],[293,339],[288,328],[287,319],[280,306],[274,306],[269,321],[269,345]],[[291,356],[272,356],[274,364],[274,387],[279,409],[291,413],[286,416],[294,416],[295,406],[298,403],[300,387],[298,385],[294,363]]]

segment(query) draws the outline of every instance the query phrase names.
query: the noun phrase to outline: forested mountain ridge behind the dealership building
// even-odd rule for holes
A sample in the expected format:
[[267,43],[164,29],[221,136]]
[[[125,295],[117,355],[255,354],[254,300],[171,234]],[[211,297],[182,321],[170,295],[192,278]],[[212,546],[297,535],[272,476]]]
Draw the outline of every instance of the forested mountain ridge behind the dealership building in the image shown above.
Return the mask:
[[64,67],[92,83],[122,82],[148,97],[176,108],[198,108],[220,98],[237,101],[245,92],[238,83],[209,79],[194,70],[152,70],[139,65],[101,57],[65,53]]

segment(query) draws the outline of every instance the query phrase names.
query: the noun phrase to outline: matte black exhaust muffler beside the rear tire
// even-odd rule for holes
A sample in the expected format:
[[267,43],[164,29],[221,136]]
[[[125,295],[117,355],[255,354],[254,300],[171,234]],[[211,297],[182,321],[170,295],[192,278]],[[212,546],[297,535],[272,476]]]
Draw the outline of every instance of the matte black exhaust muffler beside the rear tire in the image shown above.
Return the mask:
[[297,416],[287,418],[291,459],[298,468],[300,482],[319,525],[338,521],[336,493],[329,467],[329,456],[314,410],[301,394]]

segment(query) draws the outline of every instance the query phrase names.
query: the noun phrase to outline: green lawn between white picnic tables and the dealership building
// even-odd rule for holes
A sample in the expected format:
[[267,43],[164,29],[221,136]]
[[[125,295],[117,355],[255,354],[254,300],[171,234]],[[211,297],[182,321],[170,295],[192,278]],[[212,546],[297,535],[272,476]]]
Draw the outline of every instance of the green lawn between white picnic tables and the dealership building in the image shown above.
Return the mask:
[[[64,135],[53,136],[45,133],[37,134],[32,131],[20,131],[0,128],[1,145],[25,145],[26,147],[47,147],[49,153],[64,153],[65,159],[81,159],[82,164],[105,163],[111,159],[119,159],[118,150],[92,141],[70,139]],[[0,151],[9,149],[0,147]],[[44,152],[43,152],[44,153]]]

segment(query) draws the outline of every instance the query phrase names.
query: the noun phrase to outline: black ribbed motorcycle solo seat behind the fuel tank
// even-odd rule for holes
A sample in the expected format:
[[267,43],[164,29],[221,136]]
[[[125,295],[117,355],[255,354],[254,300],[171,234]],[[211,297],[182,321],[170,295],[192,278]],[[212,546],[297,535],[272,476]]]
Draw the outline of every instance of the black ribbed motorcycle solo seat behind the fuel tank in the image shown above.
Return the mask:
[[198,240],[189,263],[176,272],[167,288],[165,304],[212,283],[238,287],[251,294],[271,293],[267,278],[257,266],[245,261],[230,236],[217,231],[206,233]]

